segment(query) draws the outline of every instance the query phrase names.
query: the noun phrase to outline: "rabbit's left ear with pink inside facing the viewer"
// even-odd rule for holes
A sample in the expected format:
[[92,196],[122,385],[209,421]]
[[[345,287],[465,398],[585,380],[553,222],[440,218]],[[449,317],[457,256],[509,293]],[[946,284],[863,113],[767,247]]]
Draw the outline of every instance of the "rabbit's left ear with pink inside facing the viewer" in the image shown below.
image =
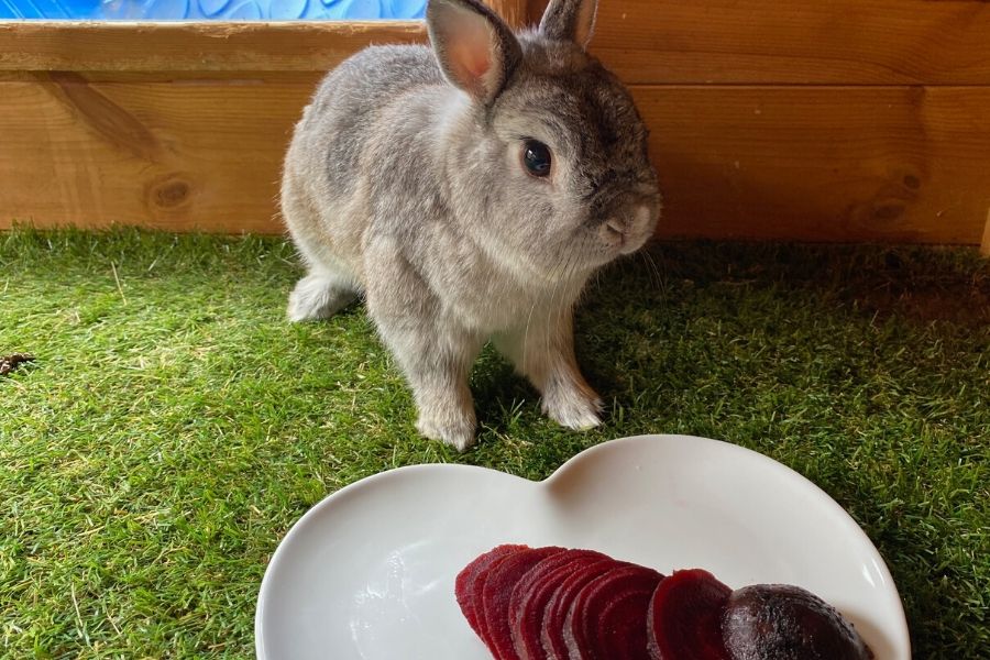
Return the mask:
[[430,0],[427,29],[443,76],[487,106],[522,59],[512,30],[477,0]]

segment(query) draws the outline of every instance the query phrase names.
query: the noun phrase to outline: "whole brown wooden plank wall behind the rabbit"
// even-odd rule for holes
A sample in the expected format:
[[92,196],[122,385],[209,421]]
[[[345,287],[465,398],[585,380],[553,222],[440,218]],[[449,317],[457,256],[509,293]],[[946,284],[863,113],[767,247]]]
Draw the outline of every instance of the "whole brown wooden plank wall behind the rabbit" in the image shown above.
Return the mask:
[[[422,38],[415,23],[0,24],[0,227],[279,231],[280,158],[321,73]],[[988,2],[602,0],[592,50],[651,128],[664,237],[990,231]]]

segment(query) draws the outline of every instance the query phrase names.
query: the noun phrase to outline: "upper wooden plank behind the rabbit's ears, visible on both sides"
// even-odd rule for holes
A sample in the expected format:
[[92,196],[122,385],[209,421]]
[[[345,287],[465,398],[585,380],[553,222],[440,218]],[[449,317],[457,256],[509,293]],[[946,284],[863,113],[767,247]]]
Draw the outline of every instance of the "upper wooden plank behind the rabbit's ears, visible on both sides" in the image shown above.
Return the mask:
[[[592,47],[630,84],[990,85],[988,35],[982,0],[602,0]],[[322,72],[422,40],[418,22],[8,22],[0,72]]]

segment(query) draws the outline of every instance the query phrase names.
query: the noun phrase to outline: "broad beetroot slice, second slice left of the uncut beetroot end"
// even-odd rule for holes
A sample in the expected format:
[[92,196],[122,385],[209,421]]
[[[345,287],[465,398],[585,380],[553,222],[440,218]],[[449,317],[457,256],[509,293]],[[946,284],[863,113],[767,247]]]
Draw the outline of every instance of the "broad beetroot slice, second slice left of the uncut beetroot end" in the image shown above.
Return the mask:
[[624,565],[588,582],[564,620],[571,660],[650,660],[647,610],[663,575]]

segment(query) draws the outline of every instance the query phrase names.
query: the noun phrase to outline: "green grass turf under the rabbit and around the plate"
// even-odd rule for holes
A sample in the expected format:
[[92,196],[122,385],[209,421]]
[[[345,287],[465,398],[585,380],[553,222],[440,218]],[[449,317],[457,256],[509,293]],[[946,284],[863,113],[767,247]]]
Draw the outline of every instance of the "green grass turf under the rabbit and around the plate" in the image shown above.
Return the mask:
[[361,306],[286,323],[298,275],[278,239],[0,234],[0,354],[37,358],[0,376],[0,654],[252,657],[266,561],[328,493],[419,462],[542,479],[678,432],[845,506],[917,658],[988,657],[990,265],[972,251],[657,245],[579,315],[606,424],[556,427],[488,350],[463,455],[416,436]]

